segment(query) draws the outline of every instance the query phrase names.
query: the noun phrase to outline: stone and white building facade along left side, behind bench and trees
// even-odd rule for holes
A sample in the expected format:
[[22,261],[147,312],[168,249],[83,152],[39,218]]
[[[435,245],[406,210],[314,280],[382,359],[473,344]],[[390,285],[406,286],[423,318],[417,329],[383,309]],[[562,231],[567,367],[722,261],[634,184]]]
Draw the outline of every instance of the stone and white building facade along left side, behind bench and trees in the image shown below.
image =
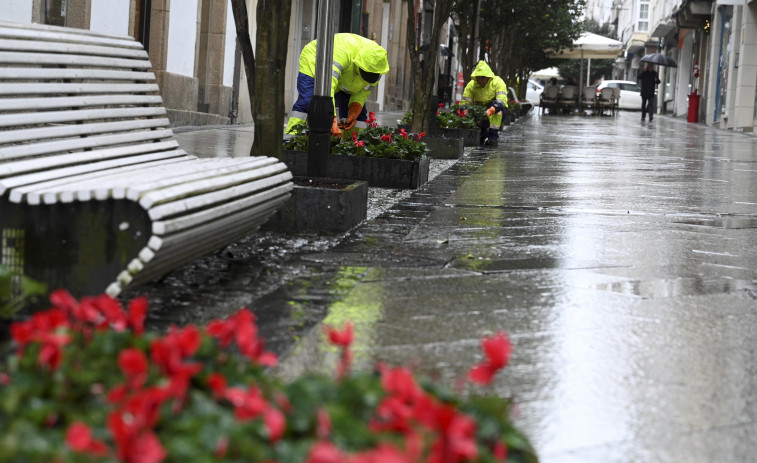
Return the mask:
[[[286,98],[297,97],[299,54],[315,39],[316,0],[292,0],[287,57]],[[397,110],[412,100],[407,51],[407,5],[402,0],[338,0],[335,30],[372,38],[387,49],[390,72],[370,96],[370,110]],[[42,23],[129,35],[147,49],[173,125],[219,125],[252,121],[250,98],[230,0],[0,0],[4,21]],[[250,37],[255,46],[257,0],[247,0]],[[427,43],[434,3],[415,0],[422,24],[412,39]],[[455,46],[451,20],[442,42]],[[448,47],[439,72],[457,75]],[[454,63],[453,63],[454,62]],[[456,79],[447,80],[453,84]]]

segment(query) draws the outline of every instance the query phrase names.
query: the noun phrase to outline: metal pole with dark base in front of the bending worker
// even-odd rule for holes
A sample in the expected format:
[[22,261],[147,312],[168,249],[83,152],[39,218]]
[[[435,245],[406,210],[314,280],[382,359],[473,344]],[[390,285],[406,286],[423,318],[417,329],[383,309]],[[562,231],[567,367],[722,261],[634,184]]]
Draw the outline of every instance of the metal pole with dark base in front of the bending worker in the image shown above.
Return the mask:
[[334,121],[334,104],[331,99],[331,62],[334,56],[333,5],[333,0],[318,1],[315,88],[308,107],[310,177],[326,176],[331,145],[331,124]]

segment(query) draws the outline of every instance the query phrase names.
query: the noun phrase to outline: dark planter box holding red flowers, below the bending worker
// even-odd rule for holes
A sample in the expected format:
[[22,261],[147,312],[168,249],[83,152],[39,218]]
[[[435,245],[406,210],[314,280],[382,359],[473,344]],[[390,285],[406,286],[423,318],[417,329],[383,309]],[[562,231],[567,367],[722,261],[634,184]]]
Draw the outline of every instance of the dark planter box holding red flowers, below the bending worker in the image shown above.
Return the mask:
[[[292,175],[307,175],[307,156],[305,151],[284,150],[284,163]],[[330,154],[327,177],[364,180],[369,186],[415,189],[428,182],[429,162],[429,158],[406,161]]]

